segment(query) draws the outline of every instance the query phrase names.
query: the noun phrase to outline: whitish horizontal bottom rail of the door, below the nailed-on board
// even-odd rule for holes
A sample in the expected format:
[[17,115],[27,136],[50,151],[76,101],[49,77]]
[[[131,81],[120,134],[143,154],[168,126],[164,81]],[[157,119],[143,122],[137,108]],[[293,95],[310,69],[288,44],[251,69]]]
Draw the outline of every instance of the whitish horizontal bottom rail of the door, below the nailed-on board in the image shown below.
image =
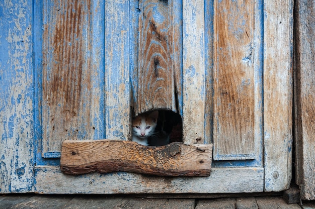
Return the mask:
[[35,177],[35,191],[39,193],[242,193],[264,190],[263,168],[212,168],[208,177],[175,178],[127,172],[65,175],[60,167],[36,166]]

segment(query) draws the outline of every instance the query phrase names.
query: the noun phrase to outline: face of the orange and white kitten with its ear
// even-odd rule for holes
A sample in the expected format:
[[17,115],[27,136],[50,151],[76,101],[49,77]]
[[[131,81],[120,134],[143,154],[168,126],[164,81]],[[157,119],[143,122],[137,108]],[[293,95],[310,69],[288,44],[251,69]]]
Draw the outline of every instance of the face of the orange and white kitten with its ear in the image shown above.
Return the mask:
[[153,111],[150,114],[141,114],[137,116],[132,122],[133,135],[139,138],[146,138],[154,133],[158,111]]

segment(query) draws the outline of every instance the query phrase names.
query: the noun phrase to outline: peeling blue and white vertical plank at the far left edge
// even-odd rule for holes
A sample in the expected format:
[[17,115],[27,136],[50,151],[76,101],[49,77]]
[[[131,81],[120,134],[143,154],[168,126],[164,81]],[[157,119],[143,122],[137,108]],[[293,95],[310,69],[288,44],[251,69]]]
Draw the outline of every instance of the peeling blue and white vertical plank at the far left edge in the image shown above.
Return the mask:
[[0,193],[34,190],[32,3],[0,2]]

